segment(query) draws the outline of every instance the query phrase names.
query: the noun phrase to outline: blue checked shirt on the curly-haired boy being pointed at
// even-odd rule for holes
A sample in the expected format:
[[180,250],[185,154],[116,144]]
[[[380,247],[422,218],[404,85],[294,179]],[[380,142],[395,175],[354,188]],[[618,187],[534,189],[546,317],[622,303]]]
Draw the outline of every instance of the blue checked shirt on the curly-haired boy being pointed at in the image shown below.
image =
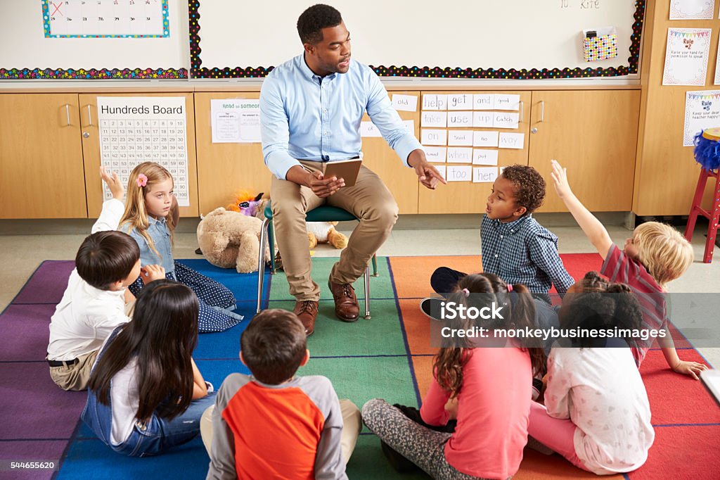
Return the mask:
[[507,283],[522,283],[531,293],[544,296],[552,285],[562,296],[575,283],[557,253],[557,236],[533,215],[508,223],[483,215],[480,240],[482,271]]

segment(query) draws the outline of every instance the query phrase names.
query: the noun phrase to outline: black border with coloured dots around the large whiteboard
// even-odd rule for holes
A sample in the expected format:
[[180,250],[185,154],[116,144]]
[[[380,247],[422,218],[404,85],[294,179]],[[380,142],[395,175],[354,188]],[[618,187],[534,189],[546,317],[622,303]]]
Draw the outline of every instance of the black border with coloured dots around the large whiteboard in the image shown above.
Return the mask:
[[[579,79],[590,77],[625,76],[636,74],[640,59],[640,40],[642,25],[645,17],[646,0],[635,2],[635,22],[632,26],[630,37],[630,56],[628,64],[609,68],[441,68],[418,67],[418,66],[370,66],[379,76],[405,76],[418,78],[442,78],[442,79],[503,79],[503,80],[536,80],[536,79]],[[200,0],[189,1],[190,17],[190,74],[197,79],[236,79],[236,78],[261,78],[267,76],[274,66],[256,68],[206,68],[202,66],[200,59]]]

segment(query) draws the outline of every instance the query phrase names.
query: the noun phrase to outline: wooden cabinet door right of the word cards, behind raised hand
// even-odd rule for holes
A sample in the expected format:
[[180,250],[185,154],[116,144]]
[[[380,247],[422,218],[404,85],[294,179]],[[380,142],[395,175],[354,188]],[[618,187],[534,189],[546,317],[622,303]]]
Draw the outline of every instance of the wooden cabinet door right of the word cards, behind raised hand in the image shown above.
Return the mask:
[[529,165],[547,182],[539,212],[567,211],[552,186],[551,159],[567,167],[588,210],[631,210],[639,110],[639,90],[533,92]]

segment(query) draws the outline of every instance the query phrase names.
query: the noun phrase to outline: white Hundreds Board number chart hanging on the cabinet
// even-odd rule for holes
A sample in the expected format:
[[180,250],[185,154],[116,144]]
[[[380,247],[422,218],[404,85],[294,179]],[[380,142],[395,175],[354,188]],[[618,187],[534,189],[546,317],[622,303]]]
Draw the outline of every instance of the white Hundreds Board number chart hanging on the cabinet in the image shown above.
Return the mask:
[[[190,205],[185,97],[97,97],[100,162],[124,185],[143,161],[164,166],[178,205]],[[104,200],[112,198],[107,186]]]

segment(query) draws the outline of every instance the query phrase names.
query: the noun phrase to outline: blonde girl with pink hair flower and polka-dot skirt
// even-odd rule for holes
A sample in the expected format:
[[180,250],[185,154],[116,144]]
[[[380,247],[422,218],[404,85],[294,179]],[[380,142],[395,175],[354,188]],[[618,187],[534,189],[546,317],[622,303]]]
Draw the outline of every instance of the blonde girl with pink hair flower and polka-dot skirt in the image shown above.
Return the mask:
[[[173,194],[173,177],[163,166],[145,161],[130,173],[125,213],[120,231],[132,236],[140,246],[140,264],[160,265],[166,277],[192,288],[199,300],[199,332],[222,332],[243,319],[235,314],[235,296],[224,285],[200,275],[173,258],[173,234],[179,208]],[[141,276],[148,272],[142,272]],[[138,295],[143,282],[138,279],[130,291]]]

